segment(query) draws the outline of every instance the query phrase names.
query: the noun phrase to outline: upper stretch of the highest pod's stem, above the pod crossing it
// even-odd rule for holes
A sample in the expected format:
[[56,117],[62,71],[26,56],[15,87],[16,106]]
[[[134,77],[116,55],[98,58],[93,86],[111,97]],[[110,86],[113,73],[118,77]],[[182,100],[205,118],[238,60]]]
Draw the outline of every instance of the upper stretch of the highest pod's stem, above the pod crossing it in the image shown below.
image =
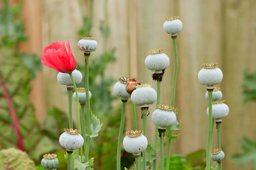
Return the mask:
[[176,36],[173,36],[172,40],[173,40],[174,60],[175,60],[174,73],[173,73],[173,84],[172,84],[172,106],[173,106],[174,101],[175,101],[175,90],[176,90],[177,71],[178,71],[178,51],[177,51]]

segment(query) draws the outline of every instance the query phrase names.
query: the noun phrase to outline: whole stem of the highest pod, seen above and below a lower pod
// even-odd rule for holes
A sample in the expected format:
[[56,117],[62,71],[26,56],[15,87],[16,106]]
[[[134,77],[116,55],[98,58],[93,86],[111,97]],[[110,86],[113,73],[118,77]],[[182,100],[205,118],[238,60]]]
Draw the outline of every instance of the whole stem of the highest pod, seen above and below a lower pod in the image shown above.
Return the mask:
[[[174,101],[175,101],[175,91],[176,91],[176,81],[177,81],[177,72],[178,72],[178,50],[177,50],[177,36],[172,36],[172,42],[173,42],[173,50],[174,50],[174,73],[173,73],[173,83],[172,83],[172,103],[171,105],[174,107]],[[171,145],[171,138],[168,136],[168,151],[167,151],[167,160],[166,160],[166,169],[169,169],[170,167],[170,145]]]

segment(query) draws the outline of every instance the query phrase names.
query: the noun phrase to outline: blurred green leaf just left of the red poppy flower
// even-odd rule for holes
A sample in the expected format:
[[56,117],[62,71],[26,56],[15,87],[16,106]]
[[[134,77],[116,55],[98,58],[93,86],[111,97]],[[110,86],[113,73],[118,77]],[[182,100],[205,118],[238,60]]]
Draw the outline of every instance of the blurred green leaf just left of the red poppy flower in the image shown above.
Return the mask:
[[36,77],[36,71],[40,71],[41,69],[41,60],[37,57],[36,54],[30,54],[27,55],[25,53],[22,53],[20,56],[22,61],[24,62],[25,66],[29,69],[31,73],[31,77],[35,78]]

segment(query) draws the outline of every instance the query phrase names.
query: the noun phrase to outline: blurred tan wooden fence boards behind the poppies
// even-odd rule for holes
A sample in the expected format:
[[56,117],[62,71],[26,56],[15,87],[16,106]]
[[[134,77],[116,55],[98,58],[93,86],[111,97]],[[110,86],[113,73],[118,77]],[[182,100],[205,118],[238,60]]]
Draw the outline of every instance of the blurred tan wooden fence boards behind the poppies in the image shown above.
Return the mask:
[[[37,49],[38,52],[40,48],[54,41],[69,39],[76,59],[78,62],[83,62],[83,55],[77,49],[77,30],[81,27],[78,1],[45,0],[41,3],[42,8],[37,6],[36,9],[42,10],[42,46],[38,45],[39,48],[33,46],[33,49]],[[97,37],[99,48],[93,55],[97,55],[103,50],[99,21],[104,18],[104,13],[102,1],[95,0],[94,4],[92,34]],[[26,8],[32,7],[28,4]],[[88,8],[86,3],[83,8],[84,10]],[[186,155],[206,148],[207,101],[204,98],[206,90],[205,86],[199,83],[197,74],[204,62],[218,62],[224,74],[220,83],[223,99],[230,108],[230,115],[223,120],[221,127],[221,141],[226,153],[223,169],[251,168],[235,166],[229,157],[233,153],[241,152],[239,140],[243,136],[256,140],[253,135],[256,130],[254,123],[256,116],[253,113],[256,104],[241,104],[242,69],[248,67],[250,71],[256,71],[255,8],[256,1],[253,0],[163,0],[161,3],[152,0],[108,1],[111,35],[107,47],[116,47],[117,61],[107,68],[106,74],[116,79],[120,76],[134,76],[143,83],[152,83],[156,88],[156,82],[151,78],[152,72],[145,67],[144,60],[148,50],[164,48],[164,52],[170,57],[170,66],[166,69],[161,84],[163,104],[170,104],[174,66],[172,39],[163,31],[164,17],[179,15],[183,22],[184,28],[177,38],[179,71],[175,101],[175,106],[179,107],[180,111],[178,119],[181,120],[181,128],[179,139],[172,143],[172,153]],[[38,11],[31,13],[40,15]],[[32,20],[33,17],[30,19]],[[36,30],[41,31],[38,25]],[[31,35],[36,34],[30,29],[28,32]],[[36,35],[40,36],[40,34]],[[35,40],[31,45],[34,43]],[[58,106],[63,110],[67,109],[66,90],[65,87],[58,85],[56,71],[44,67],[42,77],[45,107]],[[154,108],[155,104],[150,107],[150,113]],[[128,104],[127,129],[132,128],[131,111],[131,106]],[[138,113],[140,113],[139,108]],[[138,122],[141,124],[139,118],[140,115]],[[150,116],[147,120],[147,131],[154,131]],[[148,136],[149,141],[153,138],[153,133],[152,136]]]

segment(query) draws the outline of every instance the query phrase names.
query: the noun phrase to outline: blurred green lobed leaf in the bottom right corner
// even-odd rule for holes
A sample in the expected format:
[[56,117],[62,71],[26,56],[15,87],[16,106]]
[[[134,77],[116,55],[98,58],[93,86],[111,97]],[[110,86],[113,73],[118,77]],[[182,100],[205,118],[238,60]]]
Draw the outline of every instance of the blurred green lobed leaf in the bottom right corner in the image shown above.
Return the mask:
[[256,141],[243,137],[240,141],[243,153],[236,153],[231,156],[231,159],[236,162],[236,164],[248,164],[253,162],[253,167],[256,169]]

